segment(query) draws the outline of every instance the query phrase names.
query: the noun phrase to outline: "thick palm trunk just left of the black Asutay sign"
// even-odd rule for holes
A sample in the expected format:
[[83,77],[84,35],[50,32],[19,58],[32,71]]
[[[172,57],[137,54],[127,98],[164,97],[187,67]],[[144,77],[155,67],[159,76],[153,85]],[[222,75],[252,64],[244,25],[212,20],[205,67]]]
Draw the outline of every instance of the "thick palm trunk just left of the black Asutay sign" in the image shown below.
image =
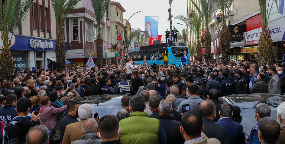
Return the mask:
[[230,36],[231,33],[227,27],[227,25],[223,24],[222,30],[220,33],[221,37],[221,46],[222,46],[222,64],[228,64],[228,53],[230,51]]

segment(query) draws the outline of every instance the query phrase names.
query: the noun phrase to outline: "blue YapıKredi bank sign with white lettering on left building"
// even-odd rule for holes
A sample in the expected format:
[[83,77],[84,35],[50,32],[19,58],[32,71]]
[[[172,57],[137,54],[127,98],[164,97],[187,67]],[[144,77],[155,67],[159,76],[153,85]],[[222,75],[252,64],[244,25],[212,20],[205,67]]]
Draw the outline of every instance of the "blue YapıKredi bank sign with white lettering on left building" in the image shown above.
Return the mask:
[[[55,40],[14,35],[16,43],[11,50],[55,51]],[[65,43],[66,50],[66,43]]]

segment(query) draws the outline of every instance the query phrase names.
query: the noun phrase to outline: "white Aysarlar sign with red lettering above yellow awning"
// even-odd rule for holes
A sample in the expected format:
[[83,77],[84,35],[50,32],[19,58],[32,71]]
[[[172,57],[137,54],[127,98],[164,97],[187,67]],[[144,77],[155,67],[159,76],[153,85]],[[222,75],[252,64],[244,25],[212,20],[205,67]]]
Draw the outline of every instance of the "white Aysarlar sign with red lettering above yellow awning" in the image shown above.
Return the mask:
[[243,33],[244,45],[257,45],[259,44],[259,36],[261,35],[262,28],[257,28]]

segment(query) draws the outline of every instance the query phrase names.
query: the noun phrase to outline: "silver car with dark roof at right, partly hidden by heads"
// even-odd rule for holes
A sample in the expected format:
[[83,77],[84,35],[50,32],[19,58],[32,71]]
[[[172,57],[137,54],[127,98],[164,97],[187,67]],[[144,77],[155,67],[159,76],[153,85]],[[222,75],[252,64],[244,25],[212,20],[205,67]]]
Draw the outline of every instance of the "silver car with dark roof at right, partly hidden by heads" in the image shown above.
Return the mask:
[[224,96],[220,100],[241,108],[241,119],[238,118],[236,122],[242,124],[243,132],[249,135],[251,129],[257,124],[254,118],[255,106],[259,103],[269,105],[271,109],[270,117],[277,120],[277,107],[285,101],[285,97],[278,94],[242,94]]

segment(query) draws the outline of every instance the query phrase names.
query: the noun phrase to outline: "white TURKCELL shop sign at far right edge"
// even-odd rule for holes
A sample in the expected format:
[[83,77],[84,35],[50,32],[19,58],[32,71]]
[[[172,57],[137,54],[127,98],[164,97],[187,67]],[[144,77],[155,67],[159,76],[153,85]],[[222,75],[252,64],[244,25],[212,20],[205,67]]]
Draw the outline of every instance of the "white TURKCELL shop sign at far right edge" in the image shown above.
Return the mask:
[[284,21],[285,17],[281,17],[268,23],[268,32],[271,34],[273,42],[280,42],[285,40]]

